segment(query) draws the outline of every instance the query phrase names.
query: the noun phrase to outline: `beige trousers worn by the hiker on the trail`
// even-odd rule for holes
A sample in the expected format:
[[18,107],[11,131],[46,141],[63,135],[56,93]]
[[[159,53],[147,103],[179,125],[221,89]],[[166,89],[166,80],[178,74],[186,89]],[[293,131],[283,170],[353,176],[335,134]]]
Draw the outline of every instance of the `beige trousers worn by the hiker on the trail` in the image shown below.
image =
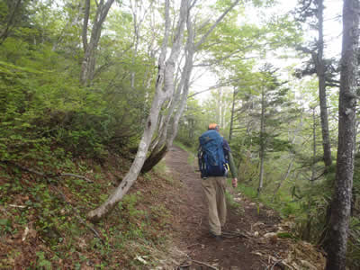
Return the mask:
[[209,205],[209,227],[211,233],[221,234],[221,226],[226,221],[226,178],[223,176],[211,176],[202,179],[202,189]]

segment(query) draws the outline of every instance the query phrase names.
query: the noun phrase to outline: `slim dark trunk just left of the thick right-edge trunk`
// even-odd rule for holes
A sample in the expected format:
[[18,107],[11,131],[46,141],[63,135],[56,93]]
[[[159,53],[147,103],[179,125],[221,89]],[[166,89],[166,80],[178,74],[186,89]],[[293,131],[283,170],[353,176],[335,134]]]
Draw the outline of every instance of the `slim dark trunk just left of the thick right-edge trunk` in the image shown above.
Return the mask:
[[318,19],[319,19],[319,40],[318,40],[318,55],[313,55],[315,60],[316,72],[319,78],[319,98],[320,98],[320,119],[322,130],[322,145],[324,148],[324,163],[325,166],[331,166],[331,145],[329,138],[329,120],[328,120],[328,104],[326,97],[325,85],[325,64],[323,59],[324,51],[324,35],[323,35],[323,0],[318,1]]

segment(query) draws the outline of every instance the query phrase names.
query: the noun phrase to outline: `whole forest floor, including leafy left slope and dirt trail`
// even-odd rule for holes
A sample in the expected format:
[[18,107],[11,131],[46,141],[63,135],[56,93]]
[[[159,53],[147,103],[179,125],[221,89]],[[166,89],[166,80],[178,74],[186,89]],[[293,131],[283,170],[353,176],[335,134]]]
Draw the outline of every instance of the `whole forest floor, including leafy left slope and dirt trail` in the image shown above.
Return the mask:
[[225,225],[232,238],[211,238],[202,180],[188,157],[171,148],[165,166],[139,175],[99,223],[85,213],[112,193],[130,159],[77,160],[71,171],[92,183],[22,168],[31,164],[0,166],[0,269],[324,269],[324,255],[296,238],[292,220],[232,187]]

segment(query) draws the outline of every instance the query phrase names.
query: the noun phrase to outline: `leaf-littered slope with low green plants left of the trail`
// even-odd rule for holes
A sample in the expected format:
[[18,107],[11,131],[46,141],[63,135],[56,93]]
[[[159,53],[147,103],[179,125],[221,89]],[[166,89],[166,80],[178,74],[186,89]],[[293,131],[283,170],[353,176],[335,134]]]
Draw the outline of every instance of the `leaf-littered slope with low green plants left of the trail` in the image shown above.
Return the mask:
[[[161,163],[140,175],[106,218],[86,220],[119,184],[129,167],[120,157],[100,166],[92,160],[57,166],[77,177],[43,177],[1,164],[1,269],[131,269],[155,267],[166,249],[169,211],[164,191],[172,184]],[[45,172],[46,167],[36,167]],[[156,250],[157,252],[154,252]]]

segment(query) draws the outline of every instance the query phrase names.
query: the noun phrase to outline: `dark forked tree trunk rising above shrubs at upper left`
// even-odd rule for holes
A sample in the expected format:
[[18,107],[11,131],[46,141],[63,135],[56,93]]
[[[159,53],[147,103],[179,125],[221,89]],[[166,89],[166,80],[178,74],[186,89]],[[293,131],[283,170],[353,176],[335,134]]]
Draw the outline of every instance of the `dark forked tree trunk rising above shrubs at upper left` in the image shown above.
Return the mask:
[[80,83],[82,85],[90,85],[94,78],[95,73],[95,51],[99,44],[101,31],[103,28],[103,22],[112,6],[114,0],[107,0],[104,4],[101,0],[96,9],[96,14],[93,22],[93,29],[91,31],[90,42],[87,43],[87,24],[90,13],[90,1],[85,0],[85,15],[83,25],[83,46],[84,46],[84,58],[81,65]]

